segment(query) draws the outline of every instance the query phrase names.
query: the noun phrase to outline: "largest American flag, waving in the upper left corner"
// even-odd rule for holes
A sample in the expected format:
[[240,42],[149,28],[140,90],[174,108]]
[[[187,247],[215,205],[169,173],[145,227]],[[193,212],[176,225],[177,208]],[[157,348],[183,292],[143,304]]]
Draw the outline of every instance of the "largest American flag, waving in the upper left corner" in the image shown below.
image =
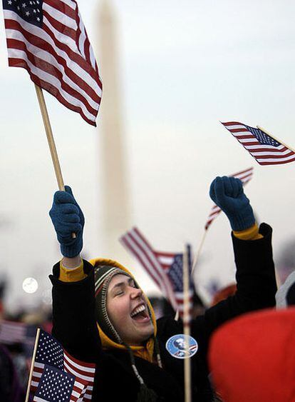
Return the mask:
[[9,66],[95,126],[98,66],[75,0],[2,0]]

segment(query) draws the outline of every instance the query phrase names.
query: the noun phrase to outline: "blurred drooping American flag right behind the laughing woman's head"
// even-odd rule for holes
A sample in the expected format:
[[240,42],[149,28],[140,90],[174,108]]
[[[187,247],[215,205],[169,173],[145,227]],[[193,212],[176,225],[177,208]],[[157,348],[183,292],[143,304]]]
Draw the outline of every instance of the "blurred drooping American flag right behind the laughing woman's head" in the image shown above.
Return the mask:
[[[183,316],[183,281],[182,281],[182,253],[165,253],[155,251],[138,228],[132,228],[120,237],[120,242],[135,256],[141,266],[145,268],[153,281],[162,291],[175,311]],[[191,258],[189,255],[189,266]],[[190,308],[194,285],[190,280]]]

